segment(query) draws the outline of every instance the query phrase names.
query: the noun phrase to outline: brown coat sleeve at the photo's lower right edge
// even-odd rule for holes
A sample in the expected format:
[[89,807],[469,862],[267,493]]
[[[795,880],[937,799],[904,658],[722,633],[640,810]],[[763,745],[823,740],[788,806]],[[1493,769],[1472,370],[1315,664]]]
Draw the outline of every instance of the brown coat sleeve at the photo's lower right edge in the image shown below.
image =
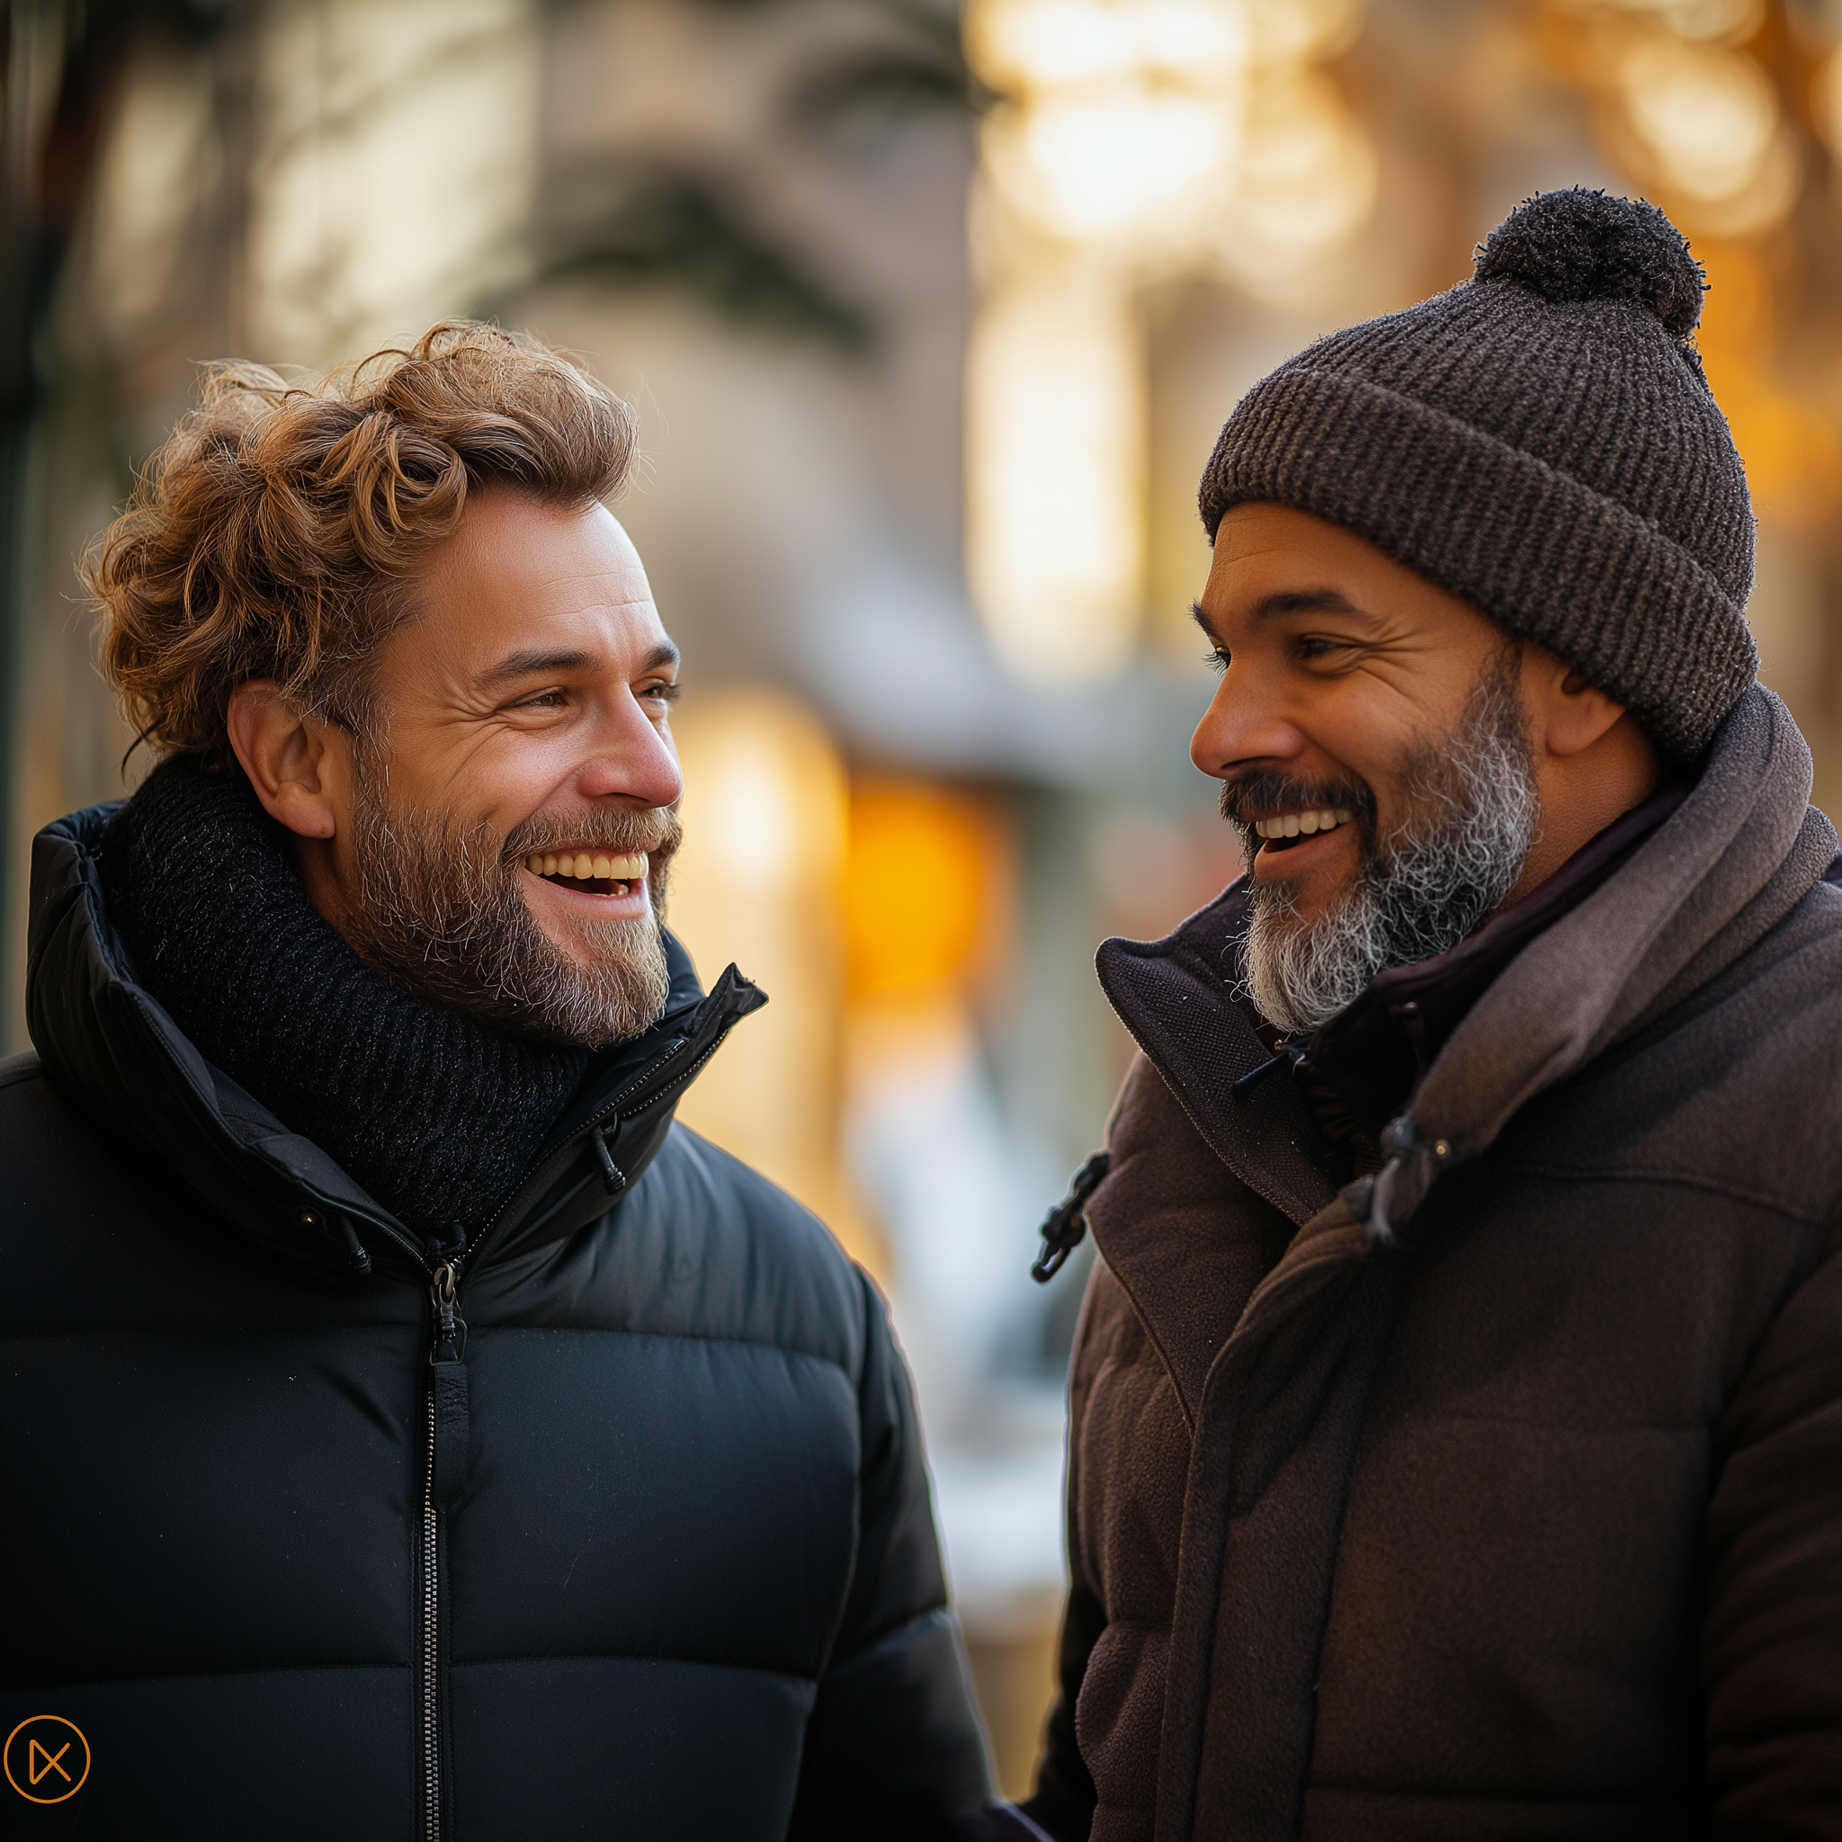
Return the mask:
[[1708,1509],[1709,1833],[1835,1836],[1842,1811],[1842,1234],[1717,1428]]

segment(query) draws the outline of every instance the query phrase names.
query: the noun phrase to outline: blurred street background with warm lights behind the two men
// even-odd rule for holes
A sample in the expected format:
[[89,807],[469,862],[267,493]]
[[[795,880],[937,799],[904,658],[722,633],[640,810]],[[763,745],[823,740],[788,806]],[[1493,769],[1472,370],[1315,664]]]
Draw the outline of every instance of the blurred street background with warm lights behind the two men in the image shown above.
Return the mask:
[[[1127,1043],[1092,980],[1236,871],[1188,764],[1194,510],[1242,391],[1643,192],[1713,291],[1765,674],[1842,799],[1842,0],[9,0],[0,915],[123,790],[72,562],[201,359],[446,315],[639,409],[685,650],[672,925],[772,1006],[683,1116],[893,1299],[1026,1787],[1085,1258],[1028,1278]],[[129,777],[136,766],[129,764]],[[1081,1251],[1083,1256],[1087,1249]]]

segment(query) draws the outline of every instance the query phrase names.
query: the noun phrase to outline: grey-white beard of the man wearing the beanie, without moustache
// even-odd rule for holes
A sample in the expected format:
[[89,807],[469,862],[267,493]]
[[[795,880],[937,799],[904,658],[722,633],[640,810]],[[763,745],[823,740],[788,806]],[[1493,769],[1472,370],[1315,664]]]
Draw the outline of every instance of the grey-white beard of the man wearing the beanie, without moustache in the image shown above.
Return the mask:
[[1247,989],[1289,1037],[1330,1022],[1391,967],[1457,947],[1516,886],[1540,801],[1512,652],[1472,691],[1459,733],[1418,750],[1402,779],[1413,816],[1385,847],[1367,845],[1356,888],[1312,927],[1291,884],[1253,884]]

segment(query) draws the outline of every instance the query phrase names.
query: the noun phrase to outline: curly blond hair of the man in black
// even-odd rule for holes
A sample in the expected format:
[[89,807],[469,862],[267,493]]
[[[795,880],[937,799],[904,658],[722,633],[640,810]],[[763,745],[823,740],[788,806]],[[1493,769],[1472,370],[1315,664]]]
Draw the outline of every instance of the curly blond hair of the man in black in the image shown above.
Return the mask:
[[227,766],[230,693],[274,678],[363,735],[368,665],[468,490],[589,507],[634,464],[632,409],[525,333],[444,321],[319,383],[212,365],[81,565],[138,740]]

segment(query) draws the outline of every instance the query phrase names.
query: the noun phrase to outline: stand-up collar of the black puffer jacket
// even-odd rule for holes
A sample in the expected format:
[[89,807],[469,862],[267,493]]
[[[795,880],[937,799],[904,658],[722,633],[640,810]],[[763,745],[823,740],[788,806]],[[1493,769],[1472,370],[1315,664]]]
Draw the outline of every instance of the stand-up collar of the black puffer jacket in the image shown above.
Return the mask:
[[[50,1079],[134,1155],[177,1166],[252,1240],[326,1277],[426,1273],[418,1236],[326,1151],[214,1068],[138,984],[103,903],[98,845],[116,805],[48,825],[31,849],[26,1024]],[[562,1240],[604,1214],[658,1153],[683,1089],[766,1004],[731,965],[705,997],[667,934],[670,993],[643,1035],[597,1054],[549,1138],[466,1260]]]

